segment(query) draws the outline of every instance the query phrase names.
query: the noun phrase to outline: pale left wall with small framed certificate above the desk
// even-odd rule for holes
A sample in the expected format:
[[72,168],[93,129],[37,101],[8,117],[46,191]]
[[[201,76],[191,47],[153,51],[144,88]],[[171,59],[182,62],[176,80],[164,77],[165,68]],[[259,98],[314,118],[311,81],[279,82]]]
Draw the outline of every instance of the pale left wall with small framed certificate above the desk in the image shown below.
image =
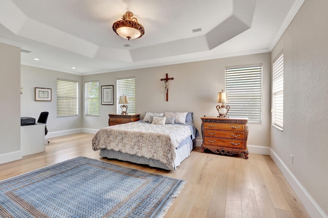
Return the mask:
[[[57,117],[57,78],[78,81],[79,86],[79,116]],[[78,75],[46,70],[22,65],[20,80],[22,81],[23,94],[20,98],[20,116],[34,117],[37,121],[43,111],[49,112],[47,121],[48,135],[65,130],[78,129],[82,126],[82,77]],[[35,87],[52,89],[52,101],[35,101]],[[48,136],[48,137],[49,137]],[[55,136],[55,135],[52,135]]]

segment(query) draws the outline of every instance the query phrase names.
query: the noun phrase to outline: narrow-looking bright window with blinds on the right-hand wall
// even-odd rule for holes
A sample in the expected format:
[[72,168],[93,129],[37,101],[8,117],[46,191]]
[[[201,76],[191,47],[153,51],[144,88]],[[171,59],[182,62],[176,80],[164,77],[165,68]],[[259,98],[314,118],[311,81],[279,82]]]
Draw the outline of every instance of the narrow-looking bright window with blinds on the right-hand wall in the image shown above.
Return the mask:
[[273,61],[272,124],[283,127],[283,53]]

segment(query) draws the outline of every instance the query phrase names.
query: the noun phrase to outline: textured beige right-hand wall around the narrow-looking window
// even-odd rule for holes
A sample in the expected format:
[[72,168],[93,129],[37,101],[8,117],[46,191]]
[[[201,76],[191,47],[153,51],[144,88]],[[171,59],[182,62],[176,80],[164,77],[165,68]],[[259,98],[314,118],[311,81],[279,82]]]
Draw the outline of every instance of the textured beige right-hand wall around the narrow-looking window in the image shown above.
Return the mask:
[[272,51],[272,59],[280,51],[284,53],[284,120],[282,132],[271,127],[272,149],[325,214],[328,214],[327,11],[328,1],[306,0]]

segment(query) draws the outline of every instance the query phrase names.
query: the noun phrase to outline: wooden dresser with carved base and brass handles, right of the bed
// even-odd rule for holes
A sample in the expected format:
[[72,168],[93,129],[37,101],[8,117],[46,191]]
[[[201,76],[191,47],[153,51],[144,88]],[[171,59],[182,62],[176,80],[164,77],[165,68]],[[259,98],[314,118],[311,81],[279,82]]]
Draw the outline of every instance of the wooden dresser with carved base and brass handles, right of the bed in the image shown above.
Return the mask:
[[243,153],[248,159],[248,118],[202,117],[201,121],[201,152],[209,149],[222,155]]

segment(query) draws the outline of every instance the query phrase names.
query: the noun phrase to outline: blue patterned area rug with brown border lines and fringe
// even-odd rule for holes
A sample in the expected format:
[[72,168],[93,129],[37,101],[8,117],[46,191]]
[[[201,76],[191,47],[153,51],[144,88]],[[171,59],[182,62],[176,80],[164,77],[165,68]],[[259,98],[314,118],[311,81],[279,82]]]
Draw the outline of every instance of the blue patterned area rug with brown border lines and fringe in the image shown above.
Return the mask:
[[162,217],[185,183],[78,157],[0,181],[0,217]]

